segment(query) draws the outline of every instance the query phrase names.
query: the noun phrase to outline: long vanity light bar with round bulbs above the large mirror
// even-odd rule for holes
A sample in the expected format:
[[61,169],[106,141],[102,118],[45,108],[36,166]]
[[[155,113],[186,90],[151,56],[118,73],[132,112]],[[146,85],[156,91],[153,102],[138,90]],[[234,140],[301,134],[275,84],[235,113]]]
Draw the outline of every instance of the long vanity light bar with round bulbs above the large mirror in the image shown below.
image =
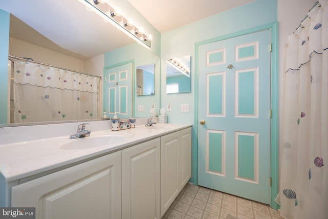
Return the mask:
[[[151,50],[151,34],[146,35],[144,30],[135,27],[131,19],[126,19],[121,15],[121,9],[119,7],[113,8],[106,0],[77,0],[81,4],[85,5],[88,10],[91,10],[98,14],[100,17],[114,25],[118,30],[124,32],[137,43]],[[101,3],[101,4],[99,4]],[[106,3],[106,4],[105,4]],[[119,17],[119,18],[117,18]]]

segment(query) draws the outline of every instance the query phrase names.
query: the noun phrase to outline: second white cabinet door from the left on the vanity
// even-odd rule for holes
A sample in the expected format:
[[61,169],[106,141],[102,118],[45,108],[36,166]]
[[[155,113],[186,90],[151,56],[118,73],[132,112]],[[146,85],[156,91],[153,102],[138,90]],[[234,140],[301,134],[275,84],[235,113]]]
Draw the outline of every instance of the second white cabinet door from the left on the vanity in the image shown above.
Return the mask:
[[122,218],[159,219],[159,138],[122,150]]

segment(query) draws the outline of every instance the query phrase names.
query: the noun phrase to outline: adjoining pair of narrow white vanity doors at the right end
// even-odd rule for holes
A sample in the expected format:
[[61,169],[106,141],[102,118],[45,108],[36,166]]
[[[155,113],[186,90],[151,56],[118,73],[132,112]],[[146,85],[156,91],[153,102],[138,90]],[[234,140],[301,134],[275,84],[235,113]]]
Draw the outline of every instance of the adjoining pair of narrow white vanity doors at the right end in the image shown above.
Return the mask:
[[191,128],[160,137],[160,216],[191,177]]

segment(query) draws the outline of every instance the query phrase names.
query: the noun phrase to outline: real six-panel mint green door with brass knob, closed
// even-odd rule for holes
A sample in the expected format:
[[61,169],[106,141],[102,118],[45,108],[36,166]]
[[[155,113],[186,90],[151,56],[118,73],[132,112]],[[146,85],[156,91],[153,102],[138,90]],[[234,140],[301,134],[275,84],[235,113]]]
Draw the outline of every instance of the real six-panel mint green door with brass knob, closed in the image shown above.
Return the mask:
[[[199,46],[198,185],[270,204],[270,30]],[[203,121],[201,121],[203,120]]]

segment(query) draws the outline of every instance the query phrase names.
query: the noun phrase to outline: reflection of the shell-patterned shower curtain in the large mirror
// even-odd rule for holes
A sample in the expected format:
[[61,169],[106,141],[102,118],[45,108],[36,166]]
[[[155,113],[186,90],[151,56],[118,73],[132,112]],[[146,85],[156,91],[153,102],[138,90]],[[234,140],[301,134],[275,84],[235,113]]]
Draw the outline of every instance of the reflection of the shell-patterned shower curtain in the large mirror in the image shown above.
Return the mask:
[[99,78],[15,59],[14,122],[98,118]]

